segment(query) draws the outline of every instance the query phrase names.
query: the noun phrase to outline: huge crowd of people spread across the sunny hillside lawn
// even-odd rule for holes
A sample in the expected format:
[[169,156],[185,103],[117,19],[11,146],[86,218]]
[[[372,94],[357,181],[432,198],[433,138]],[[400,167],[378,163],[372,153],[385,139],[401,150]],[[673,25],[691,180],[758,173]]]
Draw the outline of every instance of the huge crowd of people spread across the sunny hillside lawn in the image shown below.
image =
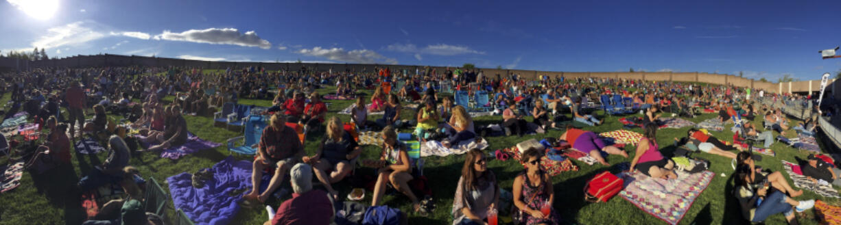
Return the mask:
[[[774,133],[784,135],[793,129],[797,133],[814,135],[816,118],[790,128],[788,118],[779,108],[759,104],[759,98],[790,98],[736,86],[698,85],[679,82],[646,82],[627,79],[564,78],[541,76],[529,81],[516,75],[483,74],[483,71],[436,71],[428,67],[411,71],[389,71],[376,68],[368,71],[265,71],[263,68],[227,69],[205,73],[198,68],[87,68],[87,69],[37,69],[34,71],[5,73],[6,85],[0,92],[10,92],[3,114],[6,118],[16,112],[29,112],[36,121],[50,130],[45,134],[45,144],[28,161],[27,167],[53,170],[71,165],[71,141],[83,135],[93,135],[107,141],[108,158],[95,166],[78,182],[80,191],[96,189],[109,183],[123,186],[133,193],[124,201],[114,202],[109,208],[123,208],[123,213],[104,211],[96,220],[87,224],[119,224],[95,222],[126,222],[131,224],[154,222],[151,217],[126,216],[126,208],[142,201],[136,188],[142,179],[130,165],[131,152],[154,151],[184,144],[189,128],[185,116],[211,115],[224,107],[226,102],[239,99],[272,101],[267,127],[257,144],[257,154],[252,163],[251,185],[243,197],[250,201],[266,202],[273,193],[290,181],[292,198],[278,208],[277,215],[267,224],[326,224],[335,217],[331,202],[340,199],[334,184],[346,180],[359,164],[376,169],[373,197],[370,206],[383,205],[383,196],[389,189],[401,193],[412,202],[415,212],[422,212],[421,201],[426,196],[416,195],[410,182],[421,177],[420,168],[410,157],[410,147],[398,139],[399,129],[411,129],[419,141],[439,140],[449,148],[484,136],[478,132],[469,111],[472,108],[457,105],[448,95],[439,95],[439,86],[450,86],[457,92],[473,95],[479,90],[489,92],[489,107],[499,109],[501,127],[506,136],[523,136],[530,133],[530,123],[542,129],[564,129],[558,139],[572,148],[589,154],[602,165],[609,165],[603,157],[616,154],[630,155],[615,145],[605,144],[596,133],[563,122],[579,122],[586,126],[599,126],[604,118],[595,114],[593,102],[600,102],[601,95],[621,95],[632,98],[642,110],[643,139],[637,143],[632,156],[630,172],[661,179],[674,179],[674,161],[659,151],[657,132],[661,114],[696,117],[701,109],[717,112],[722,123],[739,123],[734,118],[752,119],[764,115],[763,127],[744,123],[743,135],[763,140],[764,148],[774,142]],[[401,81],[399,89],[385,90],[383,82]],[[389,83],[390,84],[390,83]],[[334,97],[352,100],[351,117],[347,123],[357,128],[378,131],[382,140],[377,160],[357,163],[362,147],[356,137],[344,128],[340,118],[328,117],[328,108],[322,96],[315,92],[324,86],[336,86]],[[388,88],[391,88],[389,85]],[[364,97],[357,89],[373,89],[371,97]],[[422,95],[420,93],[423,93]],[[163,98],[174,96],[174,100]],[[811,97],[810,97],[811,98]],[[370,102],[368,105],[366,103]],[[416,103],[417,108],[408,105]],[[739,107],[735,107],[739,106]],[[64,107],[66,113],[61,113]],[[87,117],[93,112],[93,117]],[[372,112],[383,112],[373,118]],[[406,117],[406,112],[415,113]],[[570,117],[565,115],[569,113]],[[145,137],[135,141],[151,144],[148,149],[131,149],[124,135],[117,135],[110,115],[119,115]],[[372,117],[369,117],[372,116]],[[405,119],[410,118],[410,119]],[[317,149],[304,149],[302,140],[288,123],[299,123],[308,131],[324,133]],[[792,212],[802,212],[812,207],[814,201],[796,201],[802,190],[795,191],[779,171],[769,172],[754,165],[754,157],[743,144],[723,141],[711,133],[692,128],[685,138],[675,139],[679,146],[697,149],[708,154],[720,155],[738,162],[737,190],[735,197],[741,203],[745,219],[762,222],[775,213],[784,213],[793,220]],[[308,154],[309,152],[309,154]],[[468,151],[461,177],[452,202],[453,224],[486,224],[489,217],[507,210],[500,207],[499,181],[489,170],[489,154],[480,149]],[[561,218],[553,206],[555,193],[551,177],[539,165],[543,152],[526,149],[521,154],[525,169],[516,177],[512,189],[514,217],[520,224],[557,224]],[[259,191],[264,173],[272,175],[265,191]],[[826,181],[836,186],[841,170],[826,164],[815,156],[808,158],[804,175],[814,181]],[[284,180],[286,176],[289,179]],[[320,182],[324,191],[313,189],[312,181]],[[772,187],[773,189],[769,189]],[[764,199],[761,204],[757,199]],[[121,206],[117,206],[122,204]],[[325,215],[333,215],[325,217]],[[140,223],[136,223],[136,222]],[[126,224],[126,223],[124,223]]]

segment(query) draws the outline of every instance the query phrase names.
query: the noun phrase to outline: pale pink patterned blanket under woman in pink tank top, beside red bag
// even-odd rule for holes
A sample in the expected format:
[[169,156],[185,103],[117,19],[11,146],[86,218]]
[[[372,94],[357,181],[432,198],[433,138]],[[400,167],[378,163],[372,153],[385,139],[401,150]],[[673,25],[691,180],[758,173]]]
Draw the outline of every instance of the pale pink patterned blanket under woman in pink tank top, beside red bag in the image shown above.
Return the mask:
[[658,217],[669,224],[680,222],[692,203],[710,185],[715,173],[703,171],[689,174],[677,171],[678,179],[651,178],[643,173],[621,173],[625,189],[619,196],[630,201],[643,212]]

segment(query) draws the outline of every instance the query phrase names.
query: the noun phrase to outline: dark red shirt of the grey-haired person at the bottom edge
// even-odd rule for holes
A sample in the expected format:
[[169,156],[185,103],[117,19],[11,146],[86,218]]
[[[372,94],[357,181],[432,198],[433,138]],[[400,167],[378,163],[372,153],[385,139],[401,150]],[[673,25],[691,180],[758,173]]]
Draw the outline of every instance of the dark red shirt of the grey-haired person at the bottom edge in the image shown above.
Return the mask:
[[333,213],[333,203],[326,192],[312,190],[304,194],[294,193],[291,199],[280,204],[272,225],[327,225],[331,223]]

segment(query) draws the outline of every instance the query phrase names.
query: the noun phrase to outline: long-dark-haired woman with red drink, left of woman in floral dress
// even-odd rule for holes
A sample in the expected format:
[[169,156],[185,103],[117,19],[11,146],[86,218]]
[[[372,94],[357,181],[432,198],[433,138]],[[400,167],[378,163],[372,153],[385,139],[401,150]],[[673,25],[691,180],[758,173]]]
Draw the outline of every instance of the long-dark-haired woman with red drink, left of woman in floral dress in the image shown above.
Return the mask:
[[484,153],[470,149],[452,199],[452,225],[485,224],[488,212],[497,210],[499,202],[500,186],[494,172],[488,170]]

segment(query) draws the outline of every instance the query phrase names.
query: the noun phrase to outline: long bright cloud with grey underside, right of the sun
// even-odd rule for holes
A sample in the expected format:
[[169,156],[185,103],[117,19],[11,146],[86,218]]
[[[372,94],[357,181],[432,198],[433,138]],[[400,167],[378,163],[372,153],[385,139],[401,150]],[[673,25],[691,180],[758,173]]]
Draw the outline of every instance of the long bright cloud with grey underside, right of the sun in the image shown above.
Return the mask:
[[172,33],[164,30],[163,34],[155,35],[154,39],[179,40],[206,44],[234,44],[246,47],[260,47],[267,50],[272,44],[257,36],[257,33],[248,31],[240,33],[237,29],[190,29],[181,33]]

